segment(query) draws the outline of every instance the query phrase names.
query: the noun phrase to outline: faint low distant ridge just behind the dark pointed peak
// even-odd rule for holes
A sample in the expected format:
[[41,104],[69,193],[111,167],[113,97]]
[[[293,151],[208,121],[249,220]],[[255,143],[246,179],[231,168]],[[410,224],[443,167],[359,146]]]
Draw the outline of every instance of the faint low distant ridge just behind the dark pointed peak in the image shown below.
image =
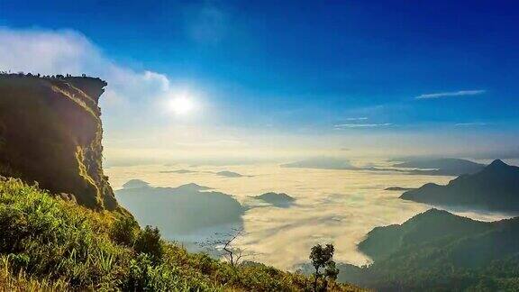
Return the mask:
[[460,176],[473,174],[485,168],[484,164],[460,159],[414,159],[393,165],[394,168],[414,169],[409,172],[421,175]]

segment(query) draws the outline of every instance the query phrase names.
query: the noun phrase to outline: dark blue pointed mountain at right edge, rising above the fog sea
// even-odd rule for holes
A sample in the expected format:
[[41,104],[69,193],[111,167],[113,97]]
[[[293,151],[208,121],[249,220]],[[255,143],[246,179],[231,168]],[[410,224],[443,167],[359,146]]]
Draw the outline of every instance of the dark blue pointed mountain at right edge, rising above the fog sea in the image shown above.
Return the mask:
[[452,179],[446,186],[425,184],[400,198],[429,205],[519,212],[519,168],[494,160],[478,173]]

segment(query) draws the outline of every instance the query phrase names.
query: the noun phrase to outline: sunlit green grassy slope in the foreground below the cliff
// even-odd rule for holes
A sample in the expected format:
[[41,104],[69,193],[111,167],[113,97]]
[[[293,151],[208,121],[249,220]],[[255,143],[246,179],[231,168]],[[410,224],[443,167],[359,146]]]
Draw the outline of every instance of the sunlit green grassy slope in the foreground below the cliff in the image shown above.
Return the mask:
[[[0,181],[0,290],[310,291],[312,278],[188,253],[132,218]],[[332,283],[331,290],[360,291]]]

